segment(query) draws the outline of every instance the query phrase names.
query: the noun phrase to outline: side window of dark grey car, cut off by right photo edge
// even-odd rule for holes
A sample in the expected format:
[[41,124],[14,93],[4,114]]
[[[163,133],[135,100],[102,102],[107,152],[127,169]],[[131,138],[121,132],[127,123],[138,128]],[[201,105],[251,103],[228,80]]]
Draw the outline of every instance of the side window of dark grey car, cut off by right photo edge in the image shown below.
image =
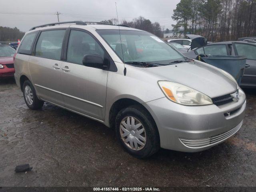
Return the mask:
[[246,56],[248,59],[256,60],[256,46],[240,43],[236,43],[235,46],[238,55]]

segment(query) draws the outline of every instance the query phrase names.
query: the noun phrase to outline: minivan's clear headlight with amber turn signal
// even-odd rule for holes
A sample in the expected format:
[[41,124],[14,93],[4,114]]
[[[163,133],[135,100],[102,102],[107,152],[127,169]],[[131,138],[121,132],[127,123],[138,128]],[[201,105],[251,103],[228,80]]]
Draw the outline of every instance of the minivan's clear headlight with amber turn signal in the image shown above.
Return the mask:
[[182,105],[210,105],[212,99],[205,94],[182,84],[170,81],[158,81],[165,96]]

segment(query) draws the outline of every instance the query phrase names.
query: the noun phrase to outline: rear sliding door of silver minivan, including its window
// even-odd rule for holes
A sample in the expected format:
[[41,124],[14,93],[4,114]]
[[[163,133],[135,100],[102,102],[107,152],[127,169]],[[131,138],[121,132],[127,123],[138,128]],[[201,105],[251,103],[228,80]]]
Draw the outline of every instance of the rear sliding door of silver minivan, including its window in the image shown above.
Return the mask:
[[29,70],[38,96],[63,106],[60,55],[66,29],[42,31],[30,57]]

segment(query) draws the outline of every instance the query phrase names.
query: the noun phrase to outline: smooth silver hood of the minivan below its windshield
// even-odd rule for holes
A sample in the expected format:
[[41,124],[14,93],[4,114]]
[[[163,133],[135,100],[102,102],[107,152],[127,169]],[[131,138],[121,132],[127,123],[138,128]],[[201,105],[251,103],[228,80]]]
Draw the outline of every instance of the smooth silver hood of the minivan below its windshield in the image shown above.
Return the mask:
[[148,72],[158,76],[159,80],[180,83],[198,90],[210,98],[234,93],[236,82],[208,64],[186,62],[147,68]]

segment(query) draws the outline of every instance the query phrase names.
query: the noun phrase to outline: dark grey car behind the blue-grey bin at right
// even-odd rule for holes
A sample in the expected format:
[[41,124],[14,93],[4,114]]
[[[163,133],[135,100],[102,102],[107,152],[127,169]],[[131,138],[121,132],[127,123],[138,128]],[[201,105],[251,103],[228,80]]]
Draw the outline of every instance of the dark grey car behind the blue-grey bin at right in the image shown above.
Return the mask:
[[246,41],[217,42],[196,48],[184,53],[185,56],[195,59],[199,54],[206,55],[240,55],[246,56],[246,67],[241,86],[256,88],[256,44]]

